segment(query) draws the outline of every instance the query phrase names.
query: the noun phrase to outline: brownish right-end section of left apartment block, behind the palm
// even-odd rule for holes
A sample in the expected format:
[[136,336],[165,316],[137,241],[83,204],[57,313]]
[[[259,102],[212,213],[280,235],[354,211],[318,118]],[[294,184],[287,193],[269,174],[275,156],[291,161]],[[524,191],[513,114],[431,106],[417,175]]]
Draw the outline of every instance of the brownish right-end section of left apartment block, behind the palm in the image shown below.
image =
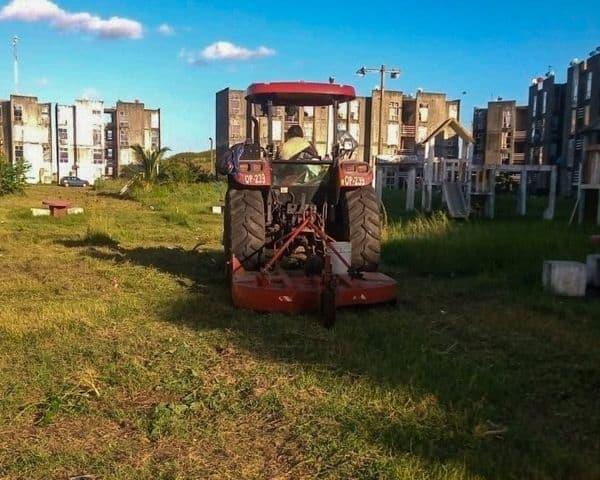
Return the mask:
[[139,100],[118,101],[104,109],[104,155],[106,174],[118,175],[136,162],[131,146],[161,148],[160,109],[147,109]]

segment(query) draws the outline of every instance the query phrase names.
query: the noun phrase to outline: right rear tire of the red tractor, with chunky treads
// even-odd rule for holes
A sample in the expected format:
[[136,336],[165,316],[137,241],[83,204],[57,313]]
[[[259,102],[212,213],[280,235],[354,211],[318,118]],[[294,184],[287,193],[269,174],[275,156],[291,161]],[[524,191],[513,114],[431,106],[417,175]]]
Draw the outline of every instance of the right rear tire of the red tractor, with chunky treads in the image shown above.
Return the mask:
[[342,193],[342,239],[352,245],[353,268],[374,272],[381,256],[379,201],[371,186]]

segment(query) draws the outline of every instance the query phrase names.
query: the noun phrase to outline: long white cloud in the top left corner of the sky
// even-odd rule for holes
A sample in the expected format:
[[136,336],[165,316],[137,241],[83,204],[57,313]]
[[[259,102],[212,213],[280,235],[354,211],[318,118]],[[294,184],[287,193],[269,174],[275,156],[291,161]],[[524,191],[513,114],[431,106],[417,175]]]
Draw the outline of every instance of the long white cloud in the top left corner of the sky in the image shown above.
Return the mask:
[[50,0],[11,0],[0,20],[48,22],[59,30],[86,32],[102,38],[142,38],[140,22],[122,17],[104,19],[88,12],[67,12]]

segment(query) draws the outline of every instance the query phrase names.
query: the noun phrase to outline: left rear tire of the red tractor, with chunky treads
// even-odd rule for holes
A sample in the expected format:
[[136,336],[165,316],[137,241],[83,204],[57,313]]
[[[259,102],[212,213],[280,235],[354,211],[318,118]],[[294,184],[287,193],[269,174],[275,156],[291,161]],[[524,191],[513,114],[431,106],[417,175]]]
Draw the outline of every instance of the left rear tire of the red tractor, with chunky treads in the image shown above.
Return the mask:
[[235,255],[246,270],[260,269],[265,245],[265,203],[259,190],[227,191],[223,234],[227,261]]

